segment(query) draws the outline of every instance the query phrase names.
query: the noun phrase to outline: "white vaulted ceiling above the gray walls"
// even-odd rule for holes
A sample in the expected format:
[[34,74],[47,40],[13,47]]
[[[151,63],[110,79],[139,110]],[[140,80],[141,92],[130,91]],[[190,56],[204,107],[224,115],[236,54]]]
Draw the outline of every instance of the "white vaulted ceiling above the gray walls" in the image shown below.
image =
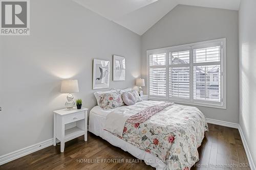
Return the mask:
[[177,5],[239,10],[240,0],[73,0],[139,34],[144,34]]

